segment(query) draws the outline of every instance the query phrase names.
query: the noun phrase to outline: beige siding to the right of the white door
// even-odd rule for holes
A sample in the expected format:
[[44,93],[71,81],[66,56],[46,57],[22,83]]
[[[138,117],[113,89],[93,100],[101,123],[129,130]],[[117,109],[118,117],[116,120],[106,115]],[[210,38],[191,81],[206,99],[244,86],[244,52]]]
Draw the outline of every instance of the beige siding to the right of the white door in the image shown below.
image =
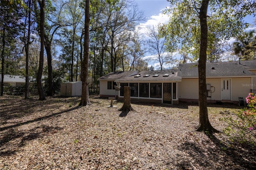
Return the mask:
[[251,77],[246,78],[232,78],[232,101],[238,101],[238,97],[244,97],[248,96],[248,93],[251,91]]

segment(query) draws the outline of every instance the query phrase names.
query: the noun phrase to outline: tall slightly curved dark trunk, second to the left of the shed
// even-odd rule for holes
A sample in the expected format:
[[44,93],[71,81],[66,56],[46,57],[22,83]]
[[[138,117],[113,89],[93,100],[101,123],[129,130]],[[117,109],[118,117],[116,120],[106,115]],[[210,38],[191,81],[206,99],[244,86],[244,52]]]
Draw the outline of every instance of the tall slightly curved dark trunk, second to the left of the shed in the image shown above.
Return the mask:
[[39,67],[38,73],[36,76],[36,84],[39,93],[39,100],[45,100],[44,89],[42,86],[42,73],[43,73],[43,66],[44,66],[44,7],[45,1],[38,0],[40,6],[40,55],[39,55]]

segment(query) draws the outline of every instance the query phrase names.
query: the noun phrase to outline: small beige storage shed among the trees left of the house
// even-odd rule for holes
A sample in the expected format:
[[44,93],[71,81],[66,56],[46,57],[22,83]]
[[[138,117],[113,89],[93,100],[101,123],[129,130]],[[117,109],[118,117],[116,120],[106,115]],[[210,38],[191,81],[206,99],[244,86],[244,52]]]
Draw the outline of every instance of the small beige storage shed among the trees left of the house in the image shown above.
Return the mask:
[[81,96],[82,81],[72,81],[60,84],[61,96]]

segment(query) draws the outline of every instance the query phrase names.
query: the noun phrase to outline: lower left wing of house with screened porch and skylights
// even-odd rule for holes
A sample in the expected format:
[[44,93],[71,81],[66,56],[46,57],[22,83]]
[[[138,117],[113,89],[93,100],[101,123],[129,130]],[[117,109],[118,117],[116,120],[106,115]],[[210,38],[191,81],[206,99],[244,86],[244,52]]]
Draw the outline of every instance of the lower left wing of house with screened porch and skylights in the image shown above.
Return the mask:
[[[124,71],[112,72],[100,77],[100,97],[113,97],[118,93],[118,99],[124,99],[124,86],[130,86],[131,101],[153,103],[178,103],[177,70],[162,71]],[[112,83],[111,83],[112,82]],[[112,85],[120,87],[116,91]],[[103,86],[103,87],[102,87]]]

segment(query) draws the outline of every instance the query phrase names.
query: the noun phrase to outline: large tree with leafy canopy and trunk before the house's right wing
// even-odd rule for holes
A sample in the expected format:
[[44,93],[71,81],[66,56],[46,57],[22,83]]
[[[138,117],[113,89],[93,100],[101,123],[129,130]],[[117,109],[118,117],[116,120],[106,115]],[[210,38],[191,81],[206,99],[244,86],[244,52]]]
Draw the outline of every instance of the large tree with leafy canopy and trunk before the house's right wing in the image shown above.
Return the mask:
[[[210,16],[208,4],[210,2]],[[234,37],[241,30],[246,28],[243,22],[244,16],[254,12],[256,2],[244,1],[209,1],[193,0],[179,1],[170,0],[172,15],[169,23],[162,30],[167,39],[168,49],[175,51],[180,45],[184,49],[200,49],[198,61],[198,80],[199,80],[199,126],[197,131],[216,132],[210,125],[207,111],[206,95],[206,58],[209,47],[208,22],[207,17],[214,18],[211,24],[215,24],[216,36],[210,42],[219,42]],[[223,10],[225,9],[225,10]],[[199,21],[198,21],[199,14]],[[198,29],[200,24],[200,29]],[[198,36],[200,35],[200,36]],[[200,48],[196,44],[200,44]]]

